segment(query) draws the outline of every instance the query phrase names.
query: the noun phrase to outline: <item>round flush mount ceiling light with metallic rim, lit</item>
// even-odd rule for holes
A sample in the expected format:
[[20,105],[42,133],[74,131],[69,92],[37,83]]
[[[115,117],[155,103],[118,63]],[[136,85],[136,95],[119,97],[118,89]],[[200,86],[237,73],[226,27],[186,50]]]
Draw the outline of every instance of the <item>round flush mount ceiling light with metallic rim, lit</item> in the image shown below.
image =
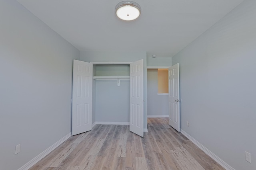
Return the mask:
[[122,20],[131,21],[140,16],[140,5],[133,1],[122,1],[116,5],[116,16]]

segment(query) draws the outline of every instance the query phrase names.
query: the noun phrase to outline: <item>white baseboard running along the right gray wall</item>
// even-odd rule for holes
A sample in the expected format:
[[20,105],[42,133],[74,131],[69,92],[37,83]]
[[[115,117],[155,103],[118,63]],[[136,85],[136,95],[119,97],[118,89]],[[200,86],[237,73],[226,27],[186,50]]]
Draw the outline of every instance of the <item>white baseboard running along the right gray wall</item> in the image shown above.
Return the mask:
[[218,162],[218,164],[220,164],[223,168],[225,168],[226,170],[235,170],[229,164],[227,164],[222,159],[220,159],[216,154],[212,153],[210,150],[208,150],[206,147],[204,147],[204,145],[202,145],[201,143],[196,141],[196,139],[194,139],[193,137],[188,135],[188,133],[186,133],[182,129],[180,129],[180,132],[184,136],[186,136],[190,141],[192,141],[196,146],[198,146],[200,149],[202,149],[206,154],[208,154],[212,159],[214,159],[216,162]]

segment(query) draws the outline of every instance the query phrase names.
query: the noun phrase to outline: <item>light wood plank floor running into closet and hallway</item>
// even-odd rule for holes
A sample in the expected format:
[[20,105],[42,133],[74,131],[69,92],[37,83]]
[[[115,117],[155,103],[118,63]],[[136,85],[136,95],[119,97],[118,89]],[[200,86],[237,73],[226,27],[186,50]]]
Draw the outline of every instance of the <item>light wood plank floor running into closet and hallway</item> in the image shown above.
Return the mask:
[[95,125],[70,137],[30,170],[224,170],[168,118],[148,118],[139,137],[128,125]]

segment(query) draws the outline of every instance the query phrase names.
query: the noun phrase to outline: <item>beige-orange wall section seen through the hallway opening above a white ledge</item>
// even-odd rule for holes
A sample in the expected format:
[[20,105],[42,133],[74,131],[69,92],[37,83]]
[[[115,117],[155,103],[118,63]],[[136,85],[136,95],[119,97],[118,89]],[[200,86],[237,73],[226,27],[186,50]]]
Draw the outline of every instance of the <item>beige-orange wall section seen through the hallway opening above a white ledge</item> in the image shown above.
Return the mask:
[[158,69],[158,93],[169,93],[168,91],[168,70]]

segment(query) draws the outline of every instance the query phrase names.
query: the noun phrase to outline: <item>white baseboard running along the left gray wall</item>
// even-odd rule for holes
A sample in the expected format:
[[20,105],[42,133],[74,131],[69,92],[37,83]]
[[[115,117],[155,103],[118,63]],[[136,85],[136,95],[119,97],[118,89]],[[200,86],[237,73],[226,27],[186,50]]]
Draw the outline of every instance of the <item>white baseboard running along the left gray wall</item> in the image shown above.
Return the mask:
[[39,160],[41,160],[42,158],[44,158],[44,156],[48,155],[50,152],[52,152],[52,150],[56,149],[58,146],[60,146],[60,144],[62,144],[63,142],[65,142],[68,138],[71,137],[71,132],[68,133],[66,136],[64,136],[62,139],[60,139],[59,141],[57,141],[56,143],[54,143],[52,146],[50,146],[48,149],[44,150],[44,152],[40,153],[38,156],[36,156],[35,158],[33,158],[32,160],[30,160],[28,163],[26,163],[25,165],[23,165],[21,168],[19,168],[18,170],[28,170],[29,168],[31,168],[34,164],[36,164]]

